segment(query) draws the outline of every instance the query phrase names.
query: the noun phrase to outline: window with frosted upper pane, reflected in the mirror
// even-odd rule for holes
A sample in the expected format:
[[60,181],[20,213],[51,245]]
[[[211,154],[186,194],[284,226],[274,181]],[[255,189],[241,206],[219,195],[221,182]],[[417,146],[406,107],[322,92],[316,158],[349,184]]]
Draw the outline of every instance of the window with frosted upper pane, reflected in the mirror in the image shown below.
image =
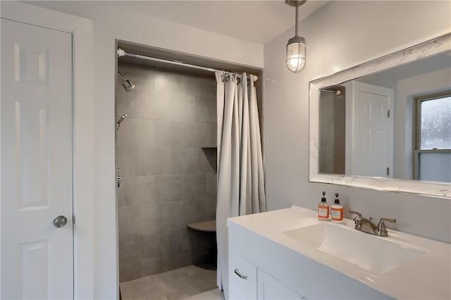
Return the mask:
[[451,182],[451,91],[415,101],[414,178]]

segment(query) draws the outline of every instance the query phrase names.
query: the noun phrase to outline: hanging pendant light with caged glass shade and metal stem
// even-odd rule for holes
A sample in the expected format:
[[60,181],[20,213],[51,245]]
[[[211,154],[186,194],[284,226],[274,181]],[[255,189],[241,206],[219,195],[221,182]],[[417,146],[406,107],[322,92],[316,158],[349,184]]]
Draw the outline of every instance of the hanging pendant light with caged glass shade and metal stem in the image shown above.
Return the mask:
[[287,56],[285,58],[285,63],[287,64],[288,70],[292,73],[298,73],[302,71],[305,66],[305,51],[307,49],[307,43],[305,42],[304,37],[299,37],[297,35],[297,17],[299,13],[299,6],[302,6],[307,2],[307,0],[303,1],[290,1],[285,0],[285,3],[289,6],[296,7],[296,23],[295,23],[295,36],[291,39],[288,39],[287,43]]

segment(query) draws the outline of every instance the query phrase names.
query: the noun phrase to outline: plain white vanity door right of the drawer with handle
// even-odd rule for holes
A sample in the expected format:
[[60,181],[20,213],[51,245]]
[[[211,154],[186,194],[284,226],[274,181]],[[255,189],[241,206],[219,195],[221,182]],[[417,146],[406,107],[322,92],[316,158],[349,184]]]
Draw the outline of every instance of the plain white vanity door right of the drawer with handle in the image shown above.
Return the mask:
[[264,270],[257,271],[258,300],[307,300]]

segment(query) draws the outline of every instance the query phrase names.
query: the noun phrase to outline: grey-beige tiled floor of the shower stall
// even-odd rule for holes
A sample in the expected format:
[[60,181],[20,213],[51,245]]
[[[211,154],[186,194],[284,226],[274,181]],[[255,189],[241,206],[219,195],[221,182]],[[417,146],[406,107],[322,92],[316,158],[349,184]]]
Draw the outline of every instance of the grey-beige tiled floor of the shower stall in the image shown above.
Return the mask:
[[223,299],[216,287],[216,271],[195,265],[121,282],[120,287],[123,300]]

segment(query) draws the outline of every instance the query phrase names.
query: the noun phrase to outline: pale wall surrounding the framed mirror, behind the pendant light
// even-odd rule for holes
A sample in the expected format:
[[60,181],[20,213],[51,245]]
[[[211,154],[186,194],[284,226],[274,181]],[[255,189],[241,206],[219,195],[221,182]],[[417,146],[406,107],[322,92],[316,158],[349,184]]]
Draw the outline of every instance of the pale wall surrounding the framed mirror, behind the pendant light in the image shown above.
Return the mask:
[[346,211],[397,218],[390,227],[451,242],[450,199],[308,182],[309,81],[450,32],[450,11],[450,1],[331,1],[299,23],[307,65],[298,74],[285,67],[294,30],[264,46],[268,209],[316,209],[322,191],[329,202],[338,192]]

